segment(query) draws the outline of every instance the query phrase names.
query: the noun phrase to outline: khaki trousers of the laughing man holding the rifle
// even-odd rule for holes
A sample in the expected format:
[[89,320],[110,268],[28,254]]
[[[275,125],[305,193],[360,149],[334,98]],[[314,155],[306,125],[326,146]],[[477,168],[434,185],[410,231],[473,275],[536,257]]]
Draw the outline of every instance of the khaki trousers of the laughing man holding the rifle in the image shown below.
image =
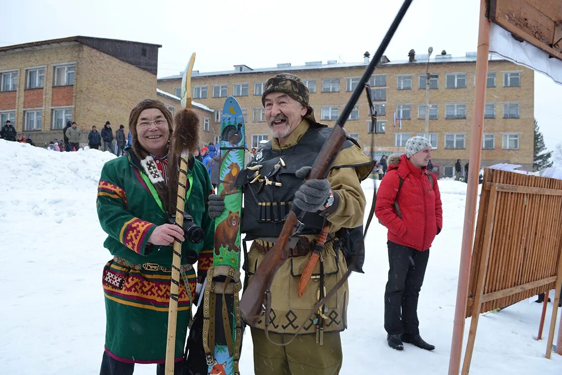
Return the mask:
[[[299,335],[287,346],[271,344],[261,329],[251,328],[251,332],[256,375],[337,375],[342,368],[339,332],[324,333],[324,345],[316,344],[316,335]],[[292,337],[269,332],[273,342]]]

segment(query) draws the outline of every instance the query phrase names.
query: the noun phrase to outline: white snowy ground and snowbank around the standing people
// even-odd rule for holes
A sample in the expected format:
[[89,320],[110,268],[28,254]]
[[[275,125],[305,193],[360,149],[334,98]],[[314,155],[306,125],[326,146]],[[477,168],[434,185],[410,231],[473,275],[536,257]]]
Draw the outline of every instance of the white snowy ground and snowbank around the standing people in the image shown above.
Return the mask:
[[[96,214],[99,173],[112,155],[59,153],[0,140],[0,374],[97,374],[105,310],[101,287],[105,234]],[[433,352],[386,344],[383,293],[386,231],[375,223],[366,243],[365,274],[350,279],[349,329],[342,334],[342,374],[445,374],[448,369],[465,204],[464,183],[440,180],[444,228],[431,249],[419,302],[420,331]],[[373,193],[364,183],[365,195]],[[550,309],[545,327],[549,326]],[[537,335],[541,305],[519,302],[479,320],[472,374],[560,375],[562,358],[544,358]],[[470,320],[466,320],[466,335]],[[556,328],[558,331],[558,327]],[[547,335],[547,329],[545,329]],[[242,374],[253,373],[244,340]],[[135,374],[153,374],[137,365]]]

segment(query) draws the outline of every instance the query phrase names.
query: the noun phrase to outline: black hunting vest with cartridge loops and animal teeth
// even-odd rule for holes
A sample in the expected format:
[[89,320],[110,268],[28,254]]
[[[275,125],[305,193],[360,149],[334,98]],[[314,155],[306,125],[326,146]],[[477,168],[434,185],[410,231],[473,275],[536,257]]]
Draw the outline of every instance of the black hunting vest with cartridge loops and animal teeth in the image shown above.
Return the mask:
[[[244,191],[242,232],[249,236],[248,240],[279,236],[294,193],[303,183],[294,173],[302,166],[314,164],[330,133],[332,128],[325,125],[311,125],[297,144],[285,150],[273,150],[269,141],[238,175],[236,183]],[[342,149],[352,145],[347,139]],[[259,169],[251,169],[258,165],[261,165]],[[319,212],[306,213],[300,219],[304,224],[300,234],[320,233],[325,219]]]

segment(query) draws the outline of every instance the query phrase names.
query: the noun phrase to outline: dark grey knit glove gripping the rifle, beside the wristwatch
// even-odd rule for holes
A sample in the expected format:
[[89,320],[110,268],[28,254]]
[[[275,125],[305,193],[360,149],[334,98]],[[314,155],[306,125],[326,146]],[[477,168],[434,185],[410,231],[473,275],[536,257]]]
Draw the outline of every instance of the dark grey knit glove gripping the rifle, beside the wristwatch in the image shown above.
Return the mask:
[[[310,173],[310,166],[299,168],[294,174],[297,178],[306,178]],[[303,211],[316,212],[324,207],[330,196],[330,182],[327,179],[305,180],[294,193],[293,205]]]

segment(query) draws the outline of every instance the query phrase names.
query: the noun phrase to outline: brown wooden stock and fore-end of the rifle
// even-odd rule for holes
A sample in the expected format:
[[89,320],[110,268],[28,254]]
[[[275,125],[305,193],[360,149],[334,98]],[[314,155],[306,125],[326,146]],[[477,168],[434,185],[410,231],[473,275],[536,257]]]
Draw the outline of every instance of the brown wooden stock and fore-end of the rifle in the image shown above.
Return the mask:
[[[307,179],[325,178],[330,163],[346,140],[346,134],[346,130],[341,125],[334,126],[332,134],[330,134],[330,137],[316,157],[314,164],[312,164],[312,169]],[[252,281],[248,283],[248,287],[242,295],[240,311],[242,318],[249,324],[255,325],[264,311],[262,306],[264,305],[265,294],[271,287],[275,273],[287,260],[287,241],[293,234],[293,229],[301,214],[302,210],[298,209],[298,207],[291,207],[291,211],[285,216],[285,223],[279,238],[273,248],[265,254],[260,266],[256,269],[256,273],[252,276]]]

